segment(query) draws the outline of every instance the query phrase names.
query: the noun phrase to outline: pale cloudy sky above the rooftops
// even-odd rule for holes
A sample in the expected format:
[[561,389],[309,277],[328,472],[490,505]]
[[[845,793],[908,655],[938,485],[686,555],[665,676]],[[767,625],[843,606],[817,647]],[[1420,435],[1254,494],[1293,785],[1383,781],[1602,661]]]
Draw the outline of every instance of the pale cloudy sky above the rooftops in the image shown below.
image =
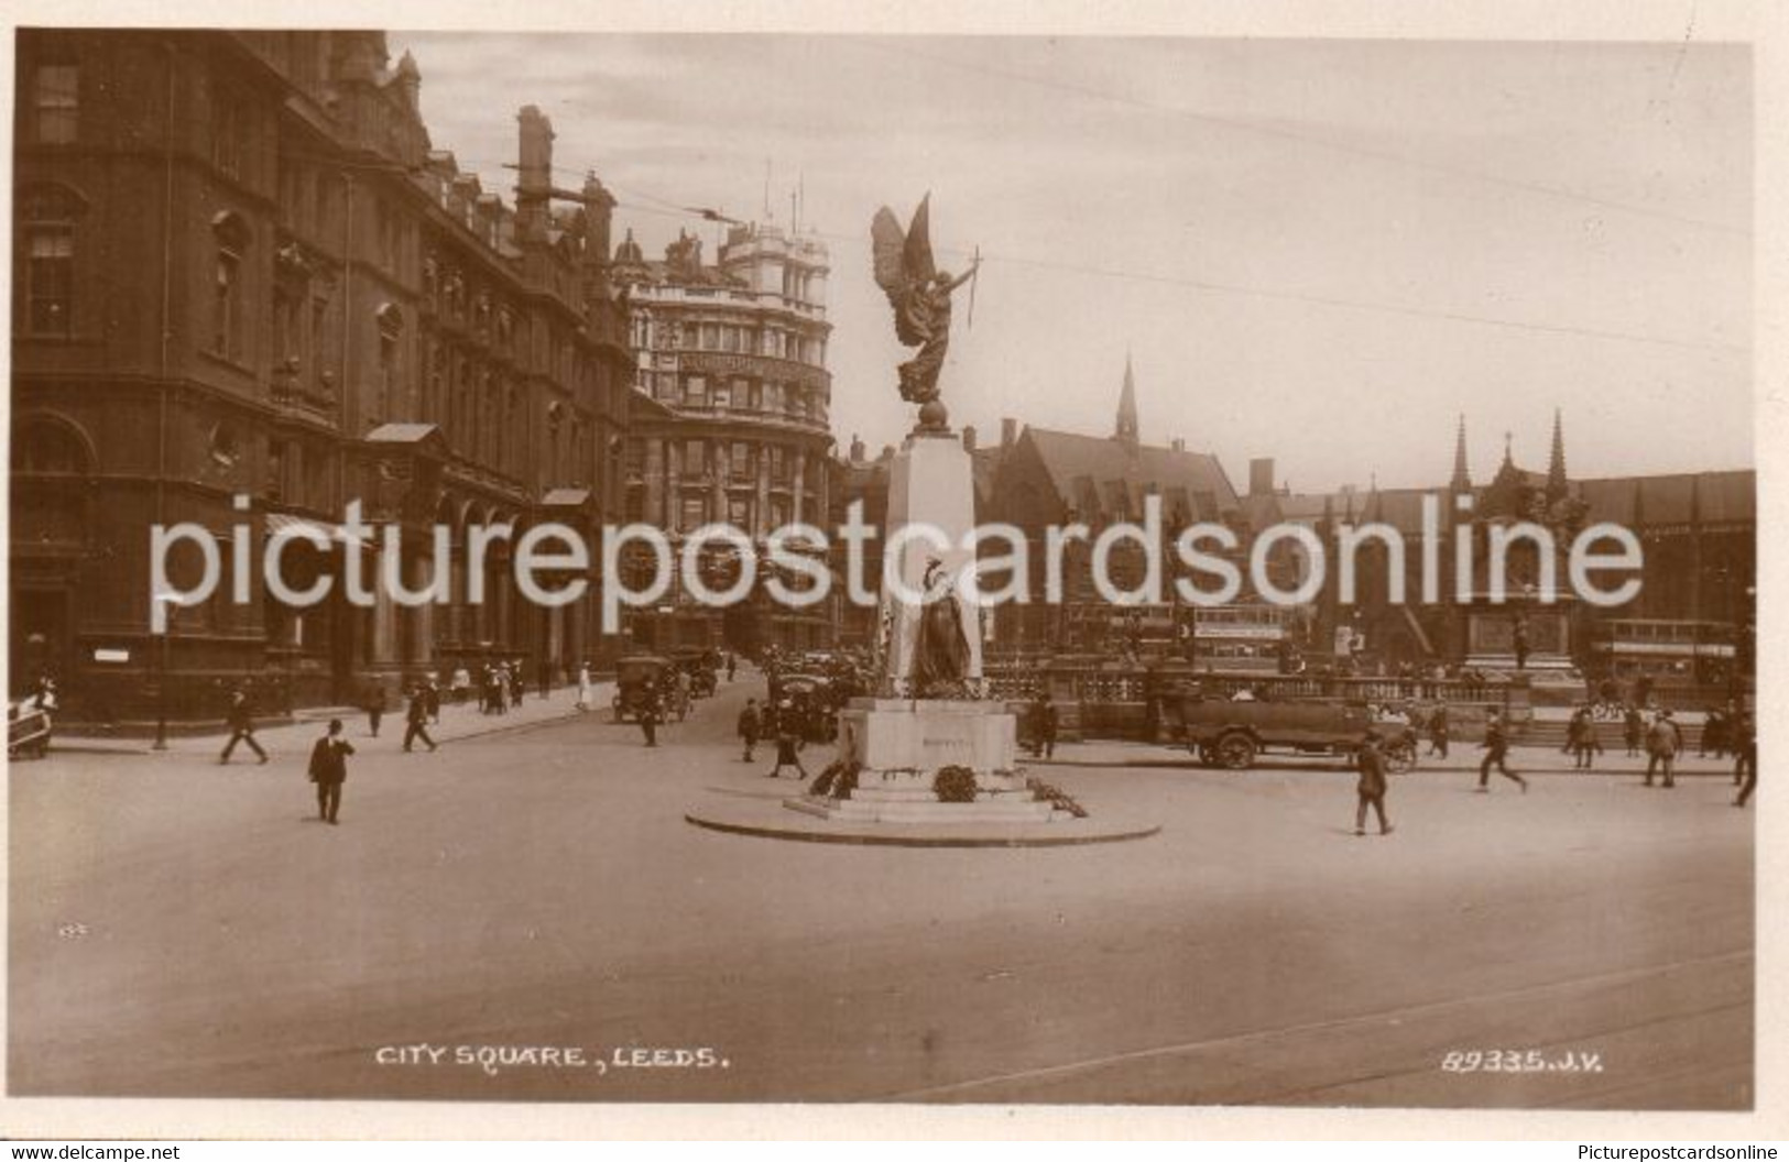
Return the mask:
[[1293,490],[1488,479],[1510,433],[1576,477],[1753,465],[1751,61],[1673,41],[394,32],[437,148],[508,197],[515,111],[662,254],[676,207],[830,247],[834,433],[911,427],[869,220],[932,195],[980,248],[954,424],[1276,459]]

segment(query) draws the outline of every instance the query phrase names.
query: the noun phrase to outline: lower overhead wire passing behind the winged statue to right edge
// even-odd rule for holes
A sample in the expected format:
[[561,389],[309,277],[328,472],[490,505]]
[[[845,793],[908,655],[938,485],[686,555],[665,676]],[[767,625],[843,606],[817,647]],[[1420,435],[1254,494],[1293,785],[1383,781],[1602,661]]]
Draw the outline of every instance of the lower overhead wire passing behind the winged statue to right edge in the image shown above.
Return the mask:
[[[565,170],[553,166],[558,173],[581,173],[576,170]],[[657,215],[664,218],[689,218],[692,222],[707,220],[699,209],[682,206],[678,202],[669,202],[666,198],[655,197],[642,189],[626,189],[624,186],[610,186],[617,193],[628,195],[628,198],[639,200],[619,200],[619,209],[628,209],[644,215]],[[648,206],[644,202],[657,202],[657,206]],[[807,231],[828,241],[837,241],[844,245],[857,245],[866,241],[868,236],[857,234],[839,234],[834,231]],[[959,257],[968,257],[966,250],[946,250]],[[1635,331],[1612,331],[1603,327],[1573,327],[1565,324],[1537,324],[1519,318],[1497,318],[1492,315],[1471,315],[1465,311],[1435,311],[1424,307],[1412,307],[1395,302],[1374,302],[1369,299],[1345,299],[1340,295],[1313,295],[1308,291],[1288,291],[1274,290],[1267,286],[1245,286],[1240,282],[1213,282],[1209,279],[1190,279],[1184,275],[1156,274],[1149,270],[1120,270],[1113,266],[1084,266],[1077,263],[1064,263],[1059,259],[1027,257],[1020,254],[1000,254],[996,250],[982,250],[982,263],[1011,263],[1014,266],[1032,266],[1039,270],[1059,270],[1063,274],[1088,275],[1098,279],[1118,279],[1127,282],[1147,282],[1154,286],[1183,286],[1186,290],[1202,291],[1208,295],[1238,295],[1247,299],[1272,299],[1279,302],[1299,302],[1304,306],[1322,306],[1347,311],[1376,311],[1381,315],[1399,315],[1406,318],[1433,318],[1438,322],[1469,324],[1480,327],[1497,327],[1505,331],[1526,331],[1533,334],[1555,334],[1555,336],[1576,336],[1589,340],[1605,340],[1619,343],[1644,343],[1651,347],[1673,347],[1678,350],[1710,350],[1723,354],[1751,354],[1751,349],[1742,343],[1714,343],[1703,340],[1680,340],[1658,334],[1641,334]]]

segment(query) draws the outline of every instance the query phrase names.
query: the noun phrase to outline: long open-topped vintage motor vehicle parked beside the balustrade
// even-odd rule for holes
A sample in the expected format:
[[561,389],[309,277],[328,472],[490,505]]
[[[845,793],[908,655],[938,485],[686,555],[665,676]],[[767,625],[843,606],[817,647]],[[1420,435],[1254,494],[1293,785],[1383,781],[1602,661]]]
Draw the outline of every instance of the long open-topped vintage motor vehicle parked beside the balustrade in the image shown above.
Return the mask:
[[1417,737],[1404,722],[1374,720],[1365,703],[1222,701],[1188,697],[1181,706],[1186,747],[1206,767],[1247,770],[1263,751],[1338,754],[1352,760],[1369,729],[1385,740],[1386,769],[1417,765]]

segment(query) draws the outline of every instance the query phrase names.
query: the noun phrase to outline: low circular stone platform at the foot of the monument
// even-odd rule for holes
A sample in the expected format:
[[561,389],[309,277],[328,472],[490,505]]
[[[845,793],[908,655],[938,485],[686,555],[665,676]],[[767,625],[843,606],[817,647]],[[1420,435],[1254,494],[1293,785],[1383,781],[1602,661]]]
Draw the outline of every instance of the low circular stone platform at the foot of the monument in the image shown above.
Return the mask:
[[861,847],[1079,847],[1149,838],[1161,831],[1161,824],[1136,819],[1102,819],[1098,813],[1050,822],[823,819],[789,810],[782,796],[716,799],[685,812],[683,819],[698,828],[730,835]]

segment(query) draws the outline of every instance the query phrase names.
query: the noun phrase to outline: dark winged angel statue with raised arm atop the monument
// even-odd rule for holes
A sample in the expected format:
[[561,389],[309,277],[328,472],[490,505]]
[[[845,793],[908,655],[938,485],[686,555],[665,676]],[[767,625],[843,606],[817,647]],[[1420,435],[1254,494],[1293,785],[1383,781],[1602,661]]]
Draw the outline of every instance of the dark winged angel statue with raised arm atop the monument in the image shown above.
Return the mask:
[[912,225],[903,234],[900,220],[887,206],[869,223],[875,245],[877,286],[894,307],[894,334],[920,354],[900,365],[900,397],[920,404],[921,427],[945,427],[945,408],[937,402],[937,374],[950,347],[950,295],[975,277],[980,259],[955,279],[932,263],[932,195],[912,211]]

